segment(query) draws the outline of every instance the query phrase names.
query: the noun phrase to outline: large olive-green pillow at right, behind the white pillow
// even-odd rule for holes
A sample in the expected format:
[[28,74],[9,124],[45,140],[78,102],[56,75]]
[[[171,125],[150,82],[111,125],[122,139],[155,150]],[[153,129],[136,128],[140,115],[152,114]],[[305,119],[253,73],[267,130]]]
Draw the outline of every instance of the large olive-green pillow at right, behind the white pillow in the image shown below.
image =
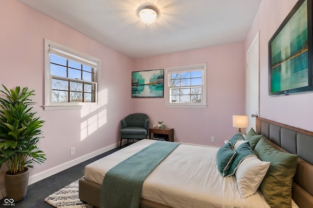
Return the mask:
[[262,161],[270,162],[260,189],[270,207],[291,208],[292,178],[298,155],[275,149],[263,136],[254,149]]

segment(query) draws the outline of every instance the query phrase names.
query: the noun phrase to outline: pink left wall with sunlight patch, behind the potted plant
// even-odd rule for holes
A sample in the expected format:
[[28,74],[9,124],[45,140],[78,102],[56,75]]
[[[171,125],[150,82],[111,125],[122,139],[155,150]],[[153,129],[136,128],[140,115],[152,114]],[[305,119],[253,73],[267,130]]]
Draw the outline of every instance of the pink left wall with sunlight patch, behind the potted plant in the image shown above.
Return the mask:
[[[34,110],[45,120],[45,138],[38,146],[47,160],[43,165],[34,164],[30,177],[119,142],[120,119],[132,111],[132,106],[126,104],[131,102],[130,91],[125,90],[130,85],[131,58],[15,0],[0,1],[0,25],[0,83],[8,88],[28,86],[35,90]],[[101,106],[89,110],[43,110],[44,38],[101,59]],[[76,153],[70,156],[72,147]],[[0,179],[0,188],[1,184]]]

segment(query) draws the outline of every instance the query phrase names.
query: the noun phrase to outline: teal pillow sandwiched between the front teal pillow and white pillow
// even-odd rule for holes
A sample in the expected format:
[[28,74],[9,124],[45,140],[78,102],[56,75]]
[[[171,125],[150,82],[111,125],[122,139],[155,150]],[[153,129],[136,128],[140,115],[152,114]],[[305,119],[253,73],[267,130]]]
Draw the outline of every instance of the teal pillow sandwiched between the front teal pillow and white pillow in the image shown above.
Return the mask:
[[229,175],[235,174],[235,171],[237,170],[239,164],[250,155],[255,155],[253,150],[250,147],[250,144],[248,141],[238,146],[238,148],[235,150],[236,155],[233,160],[233,162],[230,165],[230,169],[228,171]]

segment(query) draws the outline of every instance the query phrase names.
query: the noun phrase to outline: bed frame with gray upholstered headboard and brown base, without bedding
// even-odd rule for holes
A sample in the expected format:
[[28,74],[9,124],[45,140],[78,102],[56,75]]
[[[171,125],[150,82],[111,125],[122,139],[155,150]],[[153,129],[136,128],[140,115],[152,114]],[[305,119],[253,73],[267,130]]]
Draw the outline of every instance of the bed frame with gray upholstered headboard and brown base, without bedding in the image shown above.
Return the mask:
[[[256,132],[265,135],[272,145],[298,154],[298,165],[292,182],[292,199],[300,208],[313,208],[313,132],[256,117]],[[79,198],[99,207],[101,186],[84,178],[79,180]],[[141,199],[139,208],[169,208]]]

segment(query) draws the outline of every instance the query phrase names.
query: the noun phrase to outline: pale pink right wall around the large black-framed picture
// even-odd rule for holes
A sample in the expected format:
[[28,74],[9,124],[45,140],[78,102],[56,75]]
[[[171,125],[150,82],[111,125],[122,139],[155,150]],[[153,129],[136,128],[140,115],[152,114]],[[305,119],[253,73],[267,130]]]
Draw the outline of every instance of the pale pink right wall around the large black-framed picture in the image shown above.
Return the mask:
[[260,116],[313,131],[313,94],[268,96],[268,40],[287,17],[297,0],[263,0],[250,32],[245,51],[260,31]]

